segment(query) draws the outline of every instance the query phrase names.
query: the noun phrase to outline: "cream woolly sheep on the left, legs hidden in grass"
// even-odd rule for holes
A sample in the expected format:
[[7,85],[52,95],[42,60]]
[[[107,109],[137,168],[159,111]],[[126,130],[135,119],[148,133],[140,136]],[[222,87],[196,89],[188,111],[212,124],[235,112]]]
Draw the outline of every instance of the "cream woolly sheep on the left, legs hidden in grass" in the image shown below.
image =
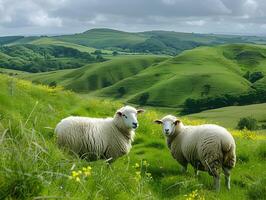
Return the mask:
[[55,128],[57,143],[89,161],[113,162],[129,153],[138,127],[137,114],[142,112],[124,106],[113,118],[67,117]]

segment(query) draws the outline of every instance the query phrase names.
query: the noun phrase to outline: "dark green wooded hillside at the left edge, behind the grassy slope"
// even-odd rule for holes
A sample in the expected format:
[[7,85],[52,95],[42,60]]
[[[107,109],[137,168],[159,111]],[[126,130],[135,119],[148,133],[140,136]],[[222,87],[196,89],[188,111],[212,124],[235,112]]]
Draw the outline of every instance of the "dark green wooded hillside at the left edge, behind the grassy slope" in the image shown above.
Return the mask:
[[12,45],[0,47],[0,67],[28,72],[78,68],[104,59],[67,45]]

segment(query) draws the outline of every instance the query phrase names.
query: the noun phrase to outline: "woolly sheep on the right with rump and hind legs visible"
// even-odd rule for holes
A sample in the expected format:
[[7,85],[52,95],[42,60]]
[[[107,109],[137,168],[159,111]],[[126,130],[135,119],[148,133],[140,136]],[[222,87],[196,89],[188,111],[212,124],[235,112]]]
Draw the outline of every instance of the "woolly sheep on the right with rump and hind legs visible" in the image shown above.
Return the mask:
[[181,120],[167,115],[155,123],[162,124],[167,145],[174,159],[187,170],[190,163],[195,170],[207,171],[214,180],[214,189],[220,189],[220,169],[230,190],[230,170],[236,163],[236,145],[232,135],[213,124],[185,126]]

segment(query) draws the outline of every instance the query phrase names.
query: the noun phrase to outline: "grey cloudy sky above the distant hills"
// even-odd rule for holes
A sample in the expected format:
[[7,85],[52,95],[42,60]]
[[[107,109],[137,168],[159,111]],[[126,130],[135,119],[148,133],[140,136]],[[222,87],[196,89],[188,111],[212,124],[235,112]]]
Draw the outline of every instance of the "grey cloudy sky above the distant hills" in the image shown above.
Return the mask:
[[266,0],[0,0],[0,35],[91,28],[266,35]]

